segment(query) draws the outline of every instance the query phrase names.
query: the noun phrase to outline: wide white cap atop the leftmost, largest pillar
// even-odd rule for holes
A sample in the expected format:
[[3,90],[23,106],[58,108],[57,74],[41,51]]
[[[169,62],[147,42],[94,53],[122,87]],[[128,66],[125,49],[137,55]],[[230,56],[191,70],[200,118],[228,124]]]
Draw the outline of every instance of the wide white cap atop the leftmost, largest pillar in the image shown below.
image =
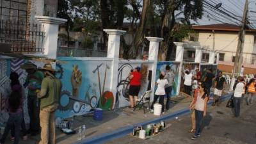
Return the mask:
[[57,17],[46,17],[46,16],[36,15],[35,18],[43,24],[58,24],[58,25],[60,25],[60,24],[67,22],[67,19],[61,19],[61,18],[57,18]]

